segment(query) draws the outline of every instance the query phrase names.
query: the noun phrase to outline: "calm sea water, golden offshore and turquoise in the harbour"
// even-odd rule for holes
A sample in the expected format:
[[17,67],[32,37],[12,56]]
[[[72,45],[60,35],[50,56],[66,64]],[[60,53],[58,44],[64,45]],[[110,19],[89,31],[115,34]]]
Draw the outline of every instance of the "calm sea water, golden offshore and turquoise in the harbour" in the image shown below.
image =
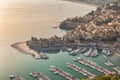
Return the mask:
[[[49,72],[51,65],[58,66],[77,78],[84,77],[68,69],[66,62],[84,67],[92,73],[102,74],[73,62],[73,57],[69,56],[67,52],[49,53],[49,60],[36,60],[32,56],[22,54],[10,47],[12,43],[29,40],[31,36],[37,38],[51,37],[55,34],[62,36],[65,31],[53,27],[58,26],[68,17],[83,16],[95,9],[96,7],[62,0],[0,0],[0,80],[9,80],[8,77],[11,74],[18,74],[27,80],[33,80],[29,76],[29,73],[33,71],[42,71],[52,80],[66,80]],[[105,61],[103,55],[94,59],[86,59],[106,67],[103,64]],[[120,66],[118,56],[109,57],[109,60]]]

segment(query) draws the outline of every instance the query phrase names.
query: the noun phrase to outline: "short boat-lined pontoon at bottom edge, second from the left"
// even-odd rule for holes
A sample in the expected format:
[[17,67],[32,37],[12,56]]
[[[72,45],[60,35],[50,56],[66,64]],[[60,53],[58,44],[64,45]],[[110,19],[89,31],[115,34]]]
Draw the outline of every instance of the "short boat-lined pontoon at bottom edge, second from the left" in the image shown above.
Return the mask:
[[51,80],[47,75],[42,72],[31,72],[30,75],[34,78],[38,78],[38,80]]

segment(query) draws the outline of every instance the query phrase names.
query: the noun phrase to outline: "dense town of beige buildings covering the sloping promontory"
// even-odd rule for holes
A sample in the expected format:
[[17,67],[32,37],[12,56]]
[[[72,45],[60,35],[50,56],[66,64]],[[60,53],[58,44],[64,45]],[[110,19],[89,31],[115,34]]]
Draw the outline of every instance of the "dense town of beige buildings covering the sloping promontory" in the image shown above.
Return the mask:
[[[120,3],[111,2],[83,17],[67,19],[60,28],[75,28],[62,37],[31,37],[26,45],[37,52],[68,50],[69,48],[99,48],[120,52]],[[73,24],[74,23],[74,24]],[[79,23],[79,24],[76,24]],[[63,24],[63,25],[62,25]],[[75,25],[76,27],[74,27]],[[69,27],[68,27],[69,26]],[[96,54],[97,55],[97,54]]]

